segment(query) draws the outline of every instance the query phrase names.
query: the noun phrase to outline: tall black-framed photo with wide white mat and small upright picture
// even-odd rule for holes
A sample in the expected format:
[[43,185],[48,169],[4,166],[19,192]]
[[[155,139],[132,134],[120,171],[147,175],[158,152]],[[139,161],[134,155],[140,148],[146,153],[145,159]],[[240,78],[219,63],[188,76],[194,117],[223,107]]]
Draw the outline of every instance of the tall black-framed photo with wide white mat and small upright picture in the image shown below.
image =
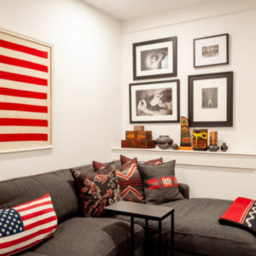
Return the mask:
[[233,72],[189,76],[189,125],[233,126]]

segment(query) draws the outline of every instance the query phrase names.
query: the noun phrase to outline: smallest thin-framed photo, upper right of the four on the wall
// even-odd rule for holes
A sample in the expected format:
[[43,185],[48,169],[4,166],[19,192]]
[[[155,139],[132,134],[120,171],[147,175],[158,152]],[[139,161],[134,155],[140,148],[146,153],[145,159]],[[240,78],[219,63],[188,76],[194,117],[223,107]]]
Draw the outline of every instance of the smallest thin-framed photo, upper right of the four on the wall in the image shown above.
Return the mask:
[[194,67],[229,63],[229,34],[194,39]]

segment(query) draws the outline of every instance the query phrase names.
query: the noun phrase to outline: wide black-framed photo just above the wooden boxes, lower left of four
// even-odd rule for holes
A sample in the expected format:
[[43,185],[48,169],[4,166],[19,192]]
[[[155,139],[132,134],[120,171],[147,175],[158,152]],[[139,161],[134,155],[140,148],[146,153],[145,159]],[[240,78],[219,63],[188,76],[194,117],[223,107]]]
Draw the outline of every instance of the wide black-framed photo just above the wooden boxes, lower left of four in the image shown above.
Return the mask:
[[130,123],[179,123],[179,80],[130,85]]

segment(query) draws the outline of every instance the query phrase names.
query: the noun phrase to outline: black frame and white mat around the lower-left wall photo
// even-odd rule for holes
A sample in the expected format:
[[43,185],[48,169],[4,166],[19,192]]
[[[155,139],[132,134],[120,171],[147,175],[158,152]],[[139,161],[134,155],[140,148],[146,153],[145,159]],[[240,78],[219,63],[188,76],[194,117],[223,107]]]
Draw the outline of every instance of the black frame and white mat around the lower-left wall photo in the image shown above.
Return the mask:
[[[137,114],[138,103],[146,98],[137,98],[137,91],[145,94],[152,93],[156,95],[158,91],[171,90],[172,89],[172,114]],[[151,96],[152,97],[152,96]],[[166,99],[166,96],[165,96]],[[146,100],[145,100],[146,101]],[[131,124],[144,124],[144,123],[179,123],[180,122],[180,81],[179,79],[145,82],[129,84],[129,104],[130,104],[130,123]],[[148,107],[147,107],[148,108]],[[168,111],[171,108],[163,108],[164,111]],[[139,110],[140,111],[140,110]],[[158,110],[155,110],[158,111]],[[162,109],[159,110],[160,112]]]

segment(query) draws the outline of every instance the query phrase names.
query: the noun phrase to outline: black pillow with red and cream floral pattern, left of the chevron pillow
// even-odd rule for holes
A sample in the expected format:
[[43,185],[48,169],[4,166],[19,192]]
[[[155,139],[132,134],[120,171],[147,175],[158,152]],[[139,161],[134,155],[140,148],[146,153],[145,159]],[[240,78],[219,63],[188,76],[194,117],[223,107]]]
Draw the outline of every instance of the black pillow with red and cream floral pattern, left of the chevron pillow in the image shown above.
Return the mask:
[[83,199],[84,215],[100,217],[104,207],[120,200],[120,187],[115,175],[114,163],[97,172],[72,171]]

